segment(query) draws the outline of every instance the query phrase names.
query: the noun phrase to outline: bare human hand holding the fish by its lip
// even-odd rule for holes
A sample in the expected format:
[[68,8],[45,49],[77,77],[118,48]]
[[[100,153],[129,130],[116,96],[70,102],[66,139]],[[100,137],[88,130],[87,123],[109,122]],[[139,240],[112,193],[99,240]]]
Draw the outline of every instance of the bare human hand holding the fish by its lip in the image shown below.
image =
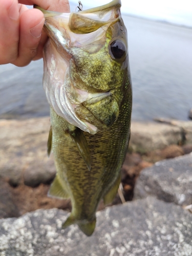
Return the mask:
[[42,57],[47,41],[42,31],[45,18],[41,11],[25,6],[34,4],[45,10],[70,12],[68,0],[0,0],[0,65],[24,67]]

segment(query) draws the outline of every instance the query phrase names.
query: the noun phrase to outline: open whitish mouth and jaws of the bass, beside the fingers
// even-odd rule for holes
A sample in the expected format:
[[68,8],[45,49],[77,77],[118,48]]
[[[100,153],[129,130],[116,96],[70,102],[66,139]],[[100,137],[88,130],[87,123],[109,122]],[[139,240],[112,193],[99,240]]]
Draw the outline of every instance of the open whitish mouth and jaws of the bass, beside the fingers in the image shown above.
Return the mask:
[[[34,5],[44,13],[44,30],[52,44],[61,56],[69,59],[71,47],[79,47],[90,53],[102,47],[106,30],[120,18],[120,7],[121,1],[114,0],[84,11],[60,13]],[[93,49],[90,49],[91,44],[94,45]]]

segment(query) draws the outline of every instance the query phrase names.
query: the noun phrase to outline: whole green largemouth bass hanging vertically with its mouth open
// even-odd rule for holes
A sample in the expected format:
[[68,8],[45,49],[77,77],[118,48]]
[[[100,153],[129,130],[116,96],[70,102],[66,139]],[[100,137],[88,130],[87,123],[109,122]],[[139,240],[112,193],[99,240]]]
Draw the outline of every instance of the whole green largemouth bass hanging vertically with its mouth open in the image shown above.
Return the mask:
[[49,36],[43,84],[51,106],[48,154],[52,148],[57,170],[49,195],[71,199],[62,227],[76,223],[87,236],[99,201],[109,204],[117,193],[130,137],[132,87],[120,7],[120,0],[72,13],[35,6]]

